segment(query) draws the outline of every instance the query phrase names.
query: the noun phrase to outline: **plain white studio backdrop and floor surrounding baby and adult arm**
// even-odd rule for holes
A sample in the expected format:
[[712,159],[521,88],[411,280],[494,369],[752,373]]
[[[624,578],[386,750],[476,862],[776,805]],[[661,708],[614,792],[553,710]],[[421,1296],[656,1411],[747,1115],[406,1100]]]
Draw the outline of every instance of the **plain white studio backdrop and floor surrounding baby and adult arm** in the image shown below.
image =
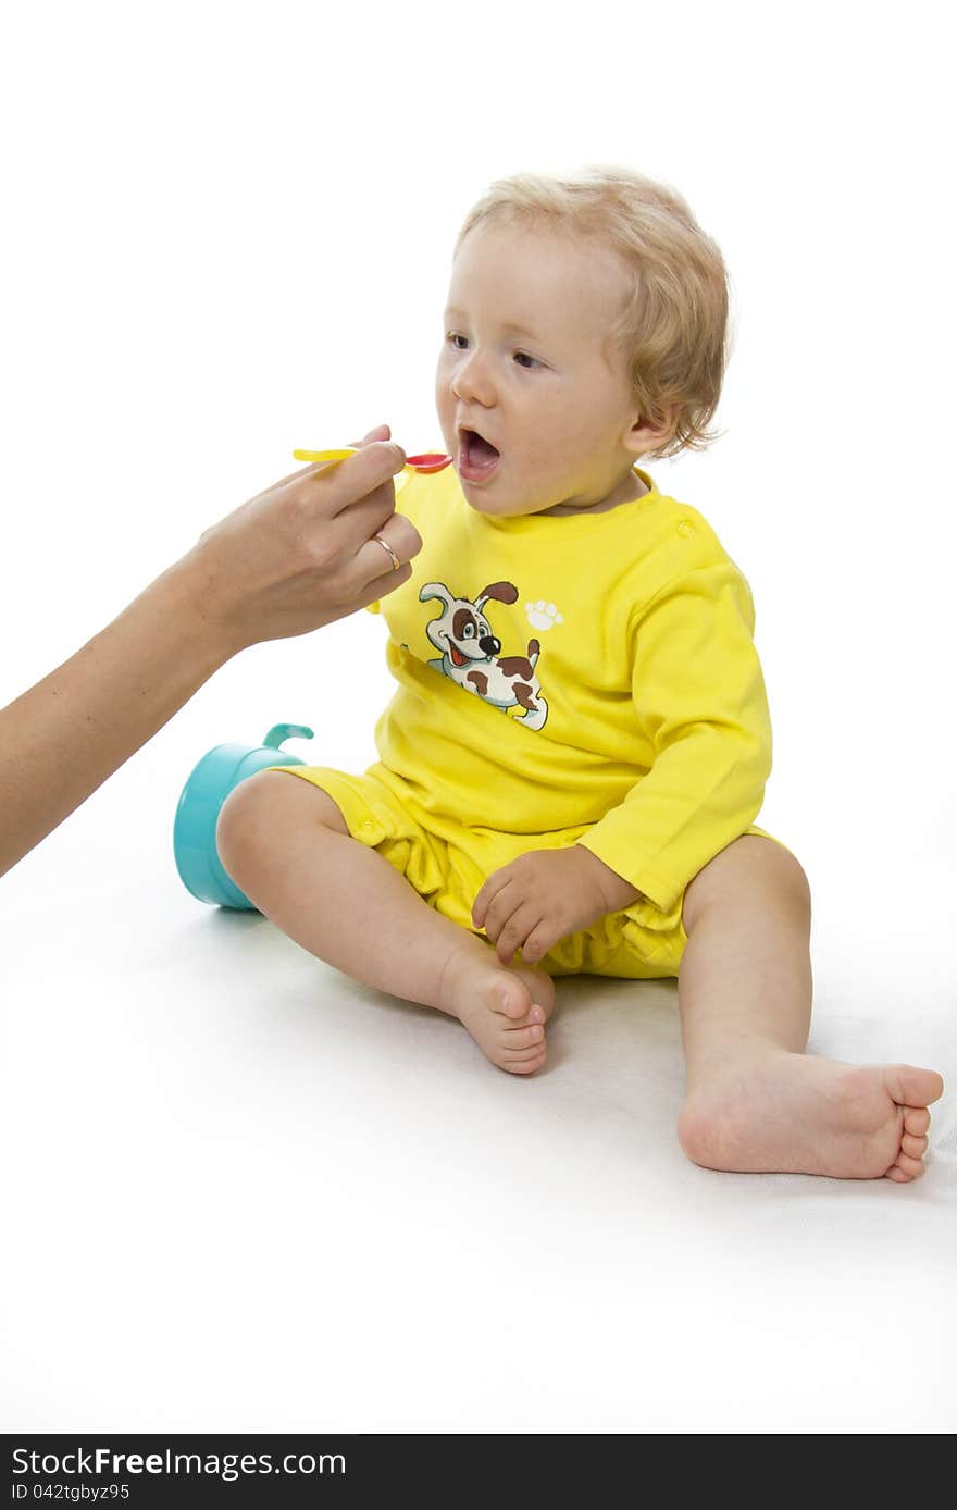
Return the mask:
[[[293,447],[441,442],[472,201],[632,166],[732,273],[726,433],[649,470],[755,593],[761,823],[815,892],[812,1046],[946,1074],[943,14],[8,11],[0,704]],[[913,1188],[711,1175],[673,1143],[673,989],[569,983],[548,1074],[516,1087],[454,1024],[181,889],[199,755],[290,720],[362,769],[382,655],[368,615],[246,652],[2,883],[8,1430],[952,1430],[946,1099]]]

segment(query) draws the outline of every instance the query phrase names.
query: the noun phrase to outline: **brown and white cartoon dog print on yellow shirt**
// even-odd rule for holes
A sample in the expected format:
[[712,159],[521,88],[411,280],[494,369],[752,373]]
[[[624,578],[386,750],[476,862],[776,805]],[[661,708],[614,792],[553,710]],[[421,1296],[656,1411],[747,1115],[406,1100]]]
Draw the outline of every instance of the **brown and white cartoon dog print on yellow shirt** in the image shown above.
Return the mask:
[[426,634],[442,657],[429,664],[451,676],[466,692],[474,692],[483,702],[491,702],[494,708],[522,707],[525,713],[521,722],[525,728],[540,729],[548,717],[548,704],[534,673],[540,645],[528,640],[527,655],[500,655],[501,640],[492,634],[492,625],[483,613],[489,599],[515,602],[518,587],[510,581],[494,581],[471,602],[469,598],[456,598],[441,581],[427,581],[418,596],[421,602],[430,598],[442,602],[438,619],[430,619],[426,625]]

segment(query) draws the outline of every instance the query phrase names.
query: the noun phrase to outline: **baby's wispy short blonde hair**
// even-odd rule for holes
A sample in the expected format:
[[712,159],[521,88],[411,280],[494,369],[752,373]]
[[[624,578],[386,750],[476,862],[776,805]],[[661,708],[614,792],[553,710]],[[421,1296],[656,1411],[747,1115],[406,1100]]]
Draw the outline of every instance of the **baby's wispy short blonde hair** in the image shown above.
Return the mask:
[[605,340],[625,353],[642,415],[663,424],[669,408],[676,414],[669,439],[648,455],[700,451],[715,441],[722,432],[706,426],[729,355],[728,270],[681,195],[626,168],[515,174],[495,180],[468,211],[454,255],[469,231],[497,217],[590,236],[623,258],[628,294]]

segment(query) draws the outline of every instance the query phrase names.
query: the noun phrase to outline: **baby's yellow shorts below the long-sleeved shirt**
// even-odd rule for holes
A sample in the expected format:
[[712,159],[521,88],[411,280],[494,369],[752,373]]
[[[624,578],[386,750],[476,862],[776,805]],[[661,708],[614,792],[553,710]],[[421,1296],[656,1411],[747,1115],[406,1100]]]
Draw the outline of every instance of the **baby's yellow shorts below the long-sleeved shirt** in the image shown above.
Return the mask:
[[[453,820],[421,812],[406,782],[382,764],[370,767],[364,776],[349,776],[326,766],[270,769],[290,772],[328,793],[355,840],[379,850],[430,908],[478,938],[485,935],[472,927],[472,901],[492,871],[530,850],[565,849],[592,827],[583,823],[552,834],[462,827]],[[758,827],[747,832],[764,835],[764,829]],[[622,912],[599,918],[590,929],[559,939],[537,966],[549,975],[617,975],[626,980],[676,975],[688,942],[681,921],[682,900],[679,897],[669,912],[661,912],[645,898],[634,901]]]

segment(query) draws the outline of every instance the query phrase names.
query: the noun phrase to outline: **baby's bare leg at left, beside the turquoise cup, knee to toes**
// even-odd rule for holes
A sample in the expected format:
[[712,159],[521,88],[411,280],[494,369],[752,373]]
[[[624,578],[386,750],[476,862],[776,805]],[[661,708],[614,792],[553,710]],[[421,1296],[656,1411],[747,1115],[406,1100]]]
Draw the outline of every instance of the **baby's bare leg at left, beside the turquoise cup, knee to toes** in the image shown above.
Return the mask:
[[350,837],[328,793],[261,772],[226,799],[216,840],[235,885],[309,953],[459,1018],[500,1069],[530,1075],[545,1063],[551,978],[501,965],[488,944],[423,901]]

